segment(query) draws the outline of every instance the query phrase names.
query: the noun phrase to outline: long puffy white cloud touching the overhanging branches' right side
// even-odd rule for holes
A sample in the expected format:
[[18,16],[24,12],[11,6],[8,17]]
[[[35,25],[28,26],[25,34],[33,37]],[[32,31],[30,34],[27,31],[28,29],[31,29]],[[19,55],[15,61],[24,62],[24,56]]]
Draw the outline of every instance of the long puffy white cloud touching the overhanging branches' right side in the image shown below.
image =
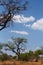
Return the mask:
[[14,15],[14,17],[12,18],[12,20],[15,23],[27,23],[27,22],[32,22],[35,20],[35,18],[33,16],[30,17],[24,17],[24,15]]

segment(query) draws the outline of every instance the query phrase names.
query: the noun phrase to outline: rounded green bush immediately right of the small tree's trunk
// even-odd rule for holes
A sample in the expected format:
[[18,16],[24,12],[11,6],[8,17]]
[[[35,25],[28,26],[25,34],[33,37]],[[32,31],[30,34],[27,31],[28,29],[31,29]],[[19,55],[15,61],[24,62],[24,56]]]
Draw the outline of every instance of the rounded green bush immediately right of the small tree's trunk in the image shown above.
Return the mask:
[[20,60],[23,60],[23,61],[29,61],[29,60],[32,60],[33,58],[34,58],[33,51],[29,51],[29,53],[20,54]]

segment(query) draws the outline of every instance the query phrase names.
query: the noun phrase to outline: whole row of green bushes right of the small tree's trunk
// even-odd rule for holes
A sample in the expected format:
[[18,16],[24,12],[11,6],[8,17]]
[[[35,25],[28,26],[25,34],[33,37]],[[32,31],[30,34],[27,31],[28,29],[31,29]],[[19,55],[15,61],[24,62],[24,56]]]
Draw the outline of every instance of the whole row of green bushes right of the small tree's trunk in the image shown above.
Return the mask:
[[23,61],[38,61],[39,55],[43,54],[42,50],[29,51],[28,53],[21,53],[19,56],[20,60]]

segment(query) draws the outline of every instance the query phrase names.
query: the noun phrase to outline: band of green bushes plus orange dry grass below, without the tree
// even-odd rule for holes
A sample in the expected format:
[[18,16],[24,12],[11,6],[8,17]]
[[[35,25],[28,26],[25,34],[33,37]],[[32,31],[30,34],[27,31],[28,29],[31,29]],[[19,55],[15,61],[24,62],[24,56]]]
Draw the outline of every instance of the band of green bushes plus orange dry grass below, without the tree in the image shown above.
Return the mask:
[[0,65],[43,65],[43,57],[39,56],[42,53],[42,50],[21,53],[19,61],[16,59],[17,56],[10,56],[4,53],[0,55]]

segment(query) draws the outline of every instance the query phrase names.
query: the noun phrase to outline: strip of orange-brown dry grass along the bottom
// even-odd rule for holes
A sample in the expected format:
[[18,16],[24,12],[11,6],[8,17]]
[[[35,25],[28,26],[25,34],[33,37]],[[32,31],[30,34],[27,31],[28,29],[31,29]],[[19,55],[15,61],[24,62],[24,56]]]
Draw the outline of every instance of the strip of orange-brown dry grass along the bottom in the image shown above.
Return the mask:
[[43,65],[43,63],[40,62],[25,62],[25,61],[0,61],[0,65]]

